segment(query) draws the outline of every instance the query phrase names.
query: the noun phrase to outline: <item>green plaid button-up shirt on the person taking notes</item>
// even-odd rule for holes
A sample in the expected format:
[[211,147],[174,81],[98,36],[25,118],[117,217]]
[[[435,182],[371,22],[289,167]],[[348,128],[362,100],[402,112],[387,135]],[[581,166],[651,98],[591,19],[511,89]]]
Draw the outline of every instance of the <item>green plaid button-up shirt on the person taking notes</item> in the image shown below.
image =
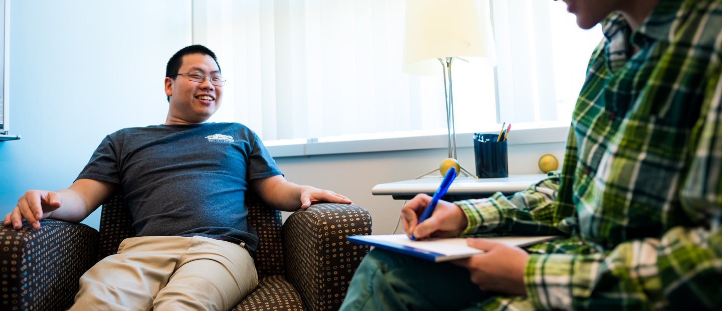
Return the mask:
[[481,307],[722,310],[722,0],[661,0],[635,32],[616,13],[603,29],[561,173],[456,202],[464,235],[565,236],[529,248],[528,297]]

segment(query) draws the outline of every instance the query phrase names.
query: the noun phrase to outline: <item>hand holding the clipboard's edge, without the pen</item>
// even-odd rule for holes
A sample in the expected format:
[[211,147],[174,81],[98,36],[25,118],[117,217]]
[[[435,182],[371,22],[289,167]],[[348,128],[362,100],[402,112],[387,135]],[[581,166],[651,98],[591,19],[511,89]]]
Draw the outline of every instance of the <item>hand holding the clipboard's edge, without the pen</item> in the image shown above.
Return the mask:
[[484,250],[484,253],[451,263],[468,269],[471,281],[479,285],[479,289],[526,296],[524,269],[529,261],[528,253],[521,248],[480,238],[466,239],[466,245]]

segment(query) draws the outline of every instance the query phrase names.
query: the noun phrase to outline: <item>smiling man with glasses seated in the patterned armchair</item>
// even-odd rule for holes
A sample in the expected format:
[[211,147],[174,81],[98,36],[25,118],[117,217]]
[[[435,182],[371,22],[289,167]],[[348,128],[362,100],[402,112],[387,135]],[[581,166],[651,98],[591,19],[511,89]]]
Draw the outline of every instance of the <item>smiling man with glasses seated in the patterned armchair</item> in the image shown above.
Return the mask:
[[224,84],[212,51],[181,49],[166,68],[164,124],[108,135],[68,189],[27,191],[5,216],[15,229],[22,219],[34,229],[45,218],[79,222],[123,193],[136,237],[84,273],[71,310],[229,310],[258,284],[246,190],[282,211],[351,203],[285,180],[242,124],[205,123]]

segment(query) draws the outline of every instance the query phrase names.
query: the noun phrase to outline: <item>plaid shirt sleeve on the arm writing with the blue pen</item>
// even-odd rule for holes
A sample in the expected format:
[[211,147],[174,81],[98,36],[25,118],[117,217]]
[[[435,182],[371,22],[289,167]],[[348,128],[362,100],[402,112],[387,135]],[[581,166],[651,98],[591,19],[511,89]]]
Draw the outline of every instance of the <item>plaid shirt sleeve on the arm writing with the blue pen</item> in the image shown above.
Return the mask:
[[468,225],[461,235],[503,232],[515,235],[558,235],[553,222],[554,203],[559,190],[560,172],[526,190],[506,197],[495,193],[490,198],[454,202],[464,211]]

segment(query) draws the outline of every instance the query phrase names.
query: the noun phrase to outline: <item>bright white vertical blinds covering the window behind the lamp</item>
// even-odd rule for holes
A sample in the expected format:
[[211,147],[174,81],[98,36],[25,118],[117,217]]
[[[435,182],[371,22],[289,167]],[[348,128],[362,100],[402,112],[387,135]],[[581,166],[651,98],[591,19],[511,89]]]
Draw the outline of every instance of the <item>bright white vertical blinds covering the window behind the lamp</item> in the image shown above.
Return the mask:
[[[497,118],[568,120],[561,111],[573,104],[560,94],[575,84],[555,79],[554,10],[539,3],[547,1],[492,0],[500,109],[494,70],[455,61],[457,133]],[[445,133],[443,79],[401,71],[404,7],[404,0],[193,0],[193,43],[217,53],[228,80],[212,121],[244,123],[266,141]],[[574,29],[573,19],[563,27]],[[573,81],[583,79],[586,50]]]

